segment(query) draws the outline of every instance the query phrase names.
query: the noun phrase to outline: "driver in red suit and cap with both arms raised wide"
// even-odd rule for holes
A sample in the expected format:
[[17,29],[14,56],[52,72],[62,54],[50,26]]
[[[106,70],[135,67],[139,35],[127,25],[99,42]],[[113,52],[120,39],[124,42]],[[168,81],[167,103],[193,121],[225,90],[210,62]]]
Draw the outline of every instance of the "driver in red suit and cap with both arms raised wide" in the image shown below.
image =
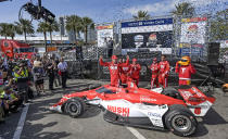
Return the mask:
[[[122,64],[117,63],[117,56],[112,55],[112,62],[103,62],[103,56],[100,56],[100,65],[109,66],[110,77],[111,77],[111,86],[119,87],[119,78],[121,78],[121,66]],[[127,56],[127,62],[129,62],[129,56]],[[127,63],[128,64],[128,63]]]

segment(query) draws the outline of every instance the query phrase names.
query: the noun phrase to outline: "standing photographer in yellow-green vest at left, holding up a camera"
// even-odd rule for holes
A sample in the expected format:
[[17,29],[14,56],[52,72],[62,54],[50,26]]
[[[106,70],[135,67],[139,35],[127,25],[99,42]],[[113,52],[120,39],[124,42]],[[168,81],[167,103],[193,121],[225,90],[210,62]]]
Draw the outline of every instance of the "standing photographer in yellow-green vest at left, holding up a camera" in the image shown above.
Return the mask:
[[[18,66],[13,70],[14,79],[16,83],[17,91],[22,94],[25,103],[28,102],[28,70],[26,64],[21,61]],[[22,93],[24,91],[24,93]]]

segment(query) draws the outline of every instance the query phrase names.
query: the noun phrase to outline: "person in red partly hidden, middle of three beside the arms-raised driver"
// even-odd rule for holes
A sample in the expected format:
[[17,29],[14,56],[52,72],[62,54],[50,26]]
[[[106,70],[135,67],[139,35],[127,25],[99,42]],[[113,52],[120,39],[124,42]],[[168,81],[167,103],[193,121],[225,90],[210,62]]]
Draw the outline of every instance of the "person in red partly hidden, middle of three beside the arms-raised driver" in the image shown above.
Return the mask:
[[127,59],[127,62],[125,59],[119,60],[121,64],[121,80],[122,84],[127,84],[127,73],[129,71],[129,59]]

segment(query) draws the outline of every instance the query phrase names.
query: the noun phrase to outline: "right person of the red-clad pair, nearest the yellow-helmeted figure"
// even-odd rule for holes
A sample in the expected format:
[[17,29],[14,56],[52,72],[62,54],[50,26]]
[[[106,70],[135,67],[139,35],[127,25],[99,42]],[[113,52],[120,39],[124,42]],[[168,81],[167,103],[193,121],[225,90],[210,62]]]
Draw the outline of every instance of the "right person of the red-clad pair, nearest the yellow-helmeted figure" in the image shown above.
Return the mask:
[[168,72],[169,72],[169,63],[166,61],[166,56],[162,55],[161,62],[159,64],[159,83],[164,88],[168,86]]

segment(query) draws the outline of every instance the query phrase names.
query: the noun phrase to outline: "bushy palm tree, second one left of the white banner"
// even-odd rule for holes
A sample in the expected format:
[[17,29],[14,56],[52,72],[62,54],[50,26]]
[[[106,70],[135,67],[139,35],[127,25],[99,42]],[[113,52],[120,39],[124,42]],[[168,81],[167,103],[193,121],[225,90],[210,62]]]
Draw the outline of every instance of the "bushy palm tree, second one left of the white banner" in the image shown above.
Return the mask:
[[66,16],[66,30],[73,30],[75,34],[75,41],[77,41],[77,34],[81,30],[81,17],[77,15]]

